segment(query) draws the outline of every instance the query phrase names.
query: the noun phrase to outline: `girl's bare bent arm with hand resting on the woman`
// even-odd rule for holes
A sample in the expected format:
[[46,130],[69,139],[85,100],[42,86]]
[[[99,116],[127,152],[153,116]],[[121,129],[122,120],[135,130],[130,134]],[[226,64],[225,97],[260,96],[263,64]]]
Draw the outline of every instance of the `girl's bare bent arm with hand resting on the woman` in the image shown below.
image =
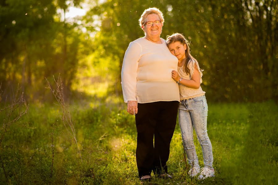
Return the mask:
[[[175,70],[172,71],[172,78],[177,82],[181,79],[181,77],[179,76],[178,72],[176,72]],[[200,83],[201,83],[201,79],[200,79],[200,73],[197,70],[197,65],[195,64],[195,68],[194,68],[194,73],[191,77],[191,80],[186,80],[186,79],[182,79],[181,81],[179,81],[180,84],[185,85],[186,87],[189,88],[195,88],[198,89],[200,87]]]

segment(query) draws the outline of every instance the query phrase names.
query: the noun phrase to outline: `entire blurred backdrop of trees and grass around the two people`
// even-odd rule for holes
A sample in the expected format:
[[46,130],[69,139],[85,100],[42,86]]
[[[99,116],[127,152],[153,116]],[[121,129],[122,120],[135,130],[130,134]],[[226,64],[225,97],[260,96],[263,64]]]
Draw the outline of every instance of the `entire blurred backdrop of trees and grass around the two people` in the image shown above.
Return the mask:
[[277,0],[0,0],[0,184],[140,184],[120,72],[149,7],[204,69],[216,171],[187,175],[177,120],[152,183],[277,184]]

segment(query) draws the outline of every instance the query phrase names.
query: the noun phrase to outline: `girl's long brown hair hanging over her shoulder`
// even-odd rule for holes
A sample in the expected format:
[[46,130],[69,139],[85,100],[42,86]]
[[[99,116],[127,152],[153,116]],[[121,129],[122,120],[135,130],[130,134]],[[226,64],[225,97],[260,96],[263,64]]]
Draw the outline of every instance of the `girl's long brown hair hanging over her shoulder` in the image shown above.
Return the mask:
[[[191,54],[190,54],[190,49],[188,46],[188,40],[184,38],[184,36],[180,33],[174,33],[171,36],[167,36],[167,46],[169,46],[169,44],[171,43],[175,43],[175,42],[180,42],[182,45],[186,44],[186,50],[185,50],[185,63],[183,65],[183,71],[186,72],[186,74],[190,74],[190,70],[188,69],[188,64],[189,62],[192,62],[192,59],[195,60],[196,62],[198,62]],[[194,66],[195,67],[195,66]],[[201,71],[203,71],[201,69]]]

